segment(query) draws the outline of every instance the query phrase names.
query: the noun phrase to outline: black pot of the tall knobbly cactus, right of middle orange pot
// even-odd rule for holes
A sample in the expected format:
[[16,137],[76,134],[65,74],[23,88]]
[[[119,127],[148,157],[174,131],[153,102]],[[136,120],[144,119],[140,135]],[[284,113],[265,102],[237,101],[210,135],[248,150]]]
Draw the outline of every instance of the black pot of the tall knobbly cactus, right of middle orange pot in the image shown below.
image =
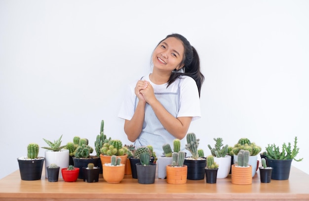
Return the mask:
[[206,158],[204,160],[185,159],[184,165],[188,166],[187,179],[201,180],[205,177]]

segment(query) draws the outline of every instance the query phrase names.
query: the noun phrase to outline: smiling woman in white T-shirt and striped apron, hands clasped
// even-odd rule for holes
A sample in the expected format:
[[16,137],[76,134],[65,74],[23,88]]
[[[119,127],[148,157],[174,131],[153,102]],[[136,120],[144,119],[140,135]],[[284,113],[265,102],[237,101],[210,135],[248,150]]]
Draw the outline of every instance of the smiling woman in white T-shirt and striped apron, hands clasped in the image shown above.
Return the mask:
[[153,72],[130,86],[118,117],[125,120],[124,132],[135,147],[152,145],[160,156],[163,144],[173,146],[175,138],[186,136],[191,121],[200,118],[204,76],[196,50],[180,34],[158,43],[152,63]]

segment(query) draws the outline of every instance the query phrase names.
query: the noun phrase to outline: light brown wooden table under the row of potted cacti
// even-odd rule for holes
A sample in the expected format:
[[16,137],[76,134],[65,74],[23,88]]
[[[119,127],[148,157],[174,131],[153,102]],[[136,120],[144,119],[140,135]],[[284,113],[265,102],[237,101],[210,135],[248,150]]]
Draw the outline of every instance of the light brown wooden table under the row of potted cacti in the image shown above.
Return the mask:
[[211,201],[309,201],[309,175],[291,168],[289,180],[271,180],[261,183],[259,171],[252,185],[234,185],[231,175],[217,179],[216,184],[204,180],[188,180],[187,184],[167,184],[156,179],[154,184],[139,184],[131,175],[119,184],[108,184],[102,174],[99,182],[48,182],[41,180],[23,181],[19,170],[0,180],[0,201],[110,201],[110,200],[211,200]]

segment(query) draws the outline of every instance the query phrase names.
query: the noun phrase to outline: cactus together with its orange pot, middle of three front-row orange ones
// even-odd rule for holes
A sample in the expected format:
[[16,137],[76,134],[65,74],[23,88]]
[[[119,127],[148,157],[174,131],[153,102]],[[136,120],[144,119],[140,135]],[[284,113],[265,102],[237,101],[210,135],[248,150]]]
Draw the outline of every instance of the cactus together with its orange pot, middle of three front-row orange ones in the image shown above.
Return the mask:
[[173,152],[172,163],[166,166],[166,182],[169,184],[187,183],[188,167],[184,165],[185,152]]

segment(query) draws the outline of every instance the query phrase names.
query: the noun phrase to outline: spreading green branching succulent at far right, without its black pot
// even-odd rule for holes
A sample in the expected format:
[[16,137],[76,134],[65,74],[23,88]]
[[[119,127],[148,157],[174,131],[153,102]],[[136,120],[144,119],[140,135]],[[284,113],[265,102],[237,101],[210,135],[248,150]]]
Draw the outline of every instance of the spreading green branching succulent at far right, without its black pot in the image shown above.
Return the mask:
[[296,159],[295,157],[299,153],[299,147],[297,147],[297,136],[294,138],[294,146],[292,149],[291,142],[286,145],[286,143],[282,144],[282,149],[280,151],[279,147],[275,144],[269,144],[266,147],[265,156],[268,159],[275,159],[275,160],[295,160],[297,162],[302,161],[301,159]]

